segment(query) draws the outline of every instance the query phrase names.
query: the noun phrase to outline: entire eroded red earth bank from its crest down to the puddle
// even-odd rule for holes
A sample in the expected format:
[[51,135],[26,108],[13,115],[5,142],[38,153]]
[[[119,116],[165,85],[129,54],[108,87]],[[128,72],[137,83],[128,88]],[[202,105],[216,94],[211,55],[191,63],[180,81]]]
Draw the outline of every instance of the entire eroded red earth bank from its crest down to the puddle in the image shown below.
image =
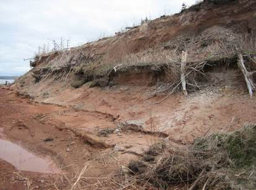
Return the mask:
[[[187,145],[198,137],[203,137],[203,142],[207,143],[205,139],[214,139],[206,143],[207,150],[203,150],[206,154],[210,154],[209,144],[218,144],[218,149],[213,146],[215,151],[223,150],[219,146],[219,142],[224,142],[219,141],[220,132],[237,130],[244,123],[256,123],[256,96],[249,97],[247,89],[250,86],[252,91],[255,90],[255,30],[256,1],[205,0],[180,14],[144,22],[109,38],[37,55],[31,62],[33,68],[30,72],[15,80],[13,85],[0,87],[0,137],[4,129],[7,139],[19,144],[21,141],[38,154],[49,152],[53,160],[68,171],[66,174],[75,171],[74,177],[67,175],[70,180],[67,176],[60,177],[59,189],[64,189],[63,185],[66,189],[74,188],[69,186],[77,176],[80,178],[76,172],[84,170],[81,187],[86,185],[89,189],[97,189],[96,184],[99,184],[98,189],[102,189],[102,184],[109,184],[108,189],[140,189],[140,186],[133,186],[134,179],[126,182],[116,175],[120,166],[121,172],[126,173],[125,166],[139,158],[143,158],[143,163],[156,159],[157,166],[165,156],[159,155],[159,160],[155,156],[161,152],[153,152],[154,157],[147,158],[148,152],[154,149],[164,151],[166,146],[185,147],[187,151]],[[212,133],[218,135],[208,138]],[[241,134],[236,132],[239,139]],[[237,147],[237,142],[235,145]],[[145,152],[147,149],[149,151]],[[244,147],[242,149],[246,151]],[[164,154],[175,156],[175,152],[166,150]],[[216,152],[213,153],[213,163],[216,163]],[[227,158],[229,153],[224,152],[224,157]],[[183,161],[187,164],[189,154],[182,151],[177,155],[185,155],[179,165]],[[167,157],[167,160],[174,159]],[[205,166],[203,171],[210,171],[208,165],[200,160],[201,154],[198,162],[191,164],[193,167],[199,165],[199,169],[193,169],[198,175]],[[169,162],[164,163],[168,163],[168,167],[173,166]],[[227,165],[226,162],[224,164]],[[234,168],[233,162],[231,166]],[[161,171],[167,168],[167,173],[170,173],[168,167],[161,167]],[[16,179],[17,176],[9,175],[8,167],[2,168],[0,176]],[[208,188],[213,183],[222,184],[219,181],[224,178],[228,180],[227,183],[224,180],[225,185],[229,182],[235,184],[232,178],[240,183],[245,176],[252,183],[243,184],[255,186],[253,170],[242,168],[240,172],[236,168],[232,175],[242,175],[234,177],[224,176],[223,170],[219,170],[221,175],[216,173],[218,178],[214,180],[208,178],[210,175],[203,175],[207,180],[197,178],[197,174],[187,179],[187,169],[180,171],[186,177],[184,181],[192,183],[193,176],[196,181],[203,179],[202,184],[193,184]],[[175,172],[173,179],[179,176],[176,184],[182,175]],[[11,173],[20,172],[15,170]],[[113,186],[113,174],[118,176],[116,181],[121,180],[121,186]],[[105,180],[106,176],[110,176],[112,182],[99,183],[99,179]],[[95,183],[91,181],[92,186],[88,181],[90,178],[95,178]],[[43,188],[38,174],[36,178],[28,179],[33,181],[33,186],[40,183],[39,187]],[[40,176],[40,179],[46,178]],[[63,179],[67,179],[67,183],[63,183]],[[166,175],[159,181],[164,182],[165,179]],[[55,176],[46,181],[55,181],[53,188],[58,185]],[[6,187],[9,188],[10,184],[19,186],[16,182],[11,180]],[[21,182],[24,185],[24,180]],[[162,187],[167,183],[162,183]],[[48,183],[44,184],[50,187]],[[139,184],[146,187],[144,182]],[[241,189],[241,186],[237,187]]]

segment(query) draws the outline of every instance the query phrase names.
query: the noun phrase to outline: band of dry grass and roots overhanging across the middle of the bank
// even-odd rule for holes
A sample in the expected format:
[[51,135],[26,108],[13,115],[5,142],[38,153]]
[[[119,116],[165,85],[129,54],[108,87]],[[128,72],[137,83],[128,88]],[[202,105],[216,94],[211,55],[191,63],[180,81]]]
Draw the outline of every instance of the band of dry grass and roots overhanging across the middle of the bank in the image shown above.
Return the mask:
[[167,92],[167,98],[182,89],[182,52],[187,54],[185,80],[189,92],[201,89],[205,85],[206,65],[213,67],[220,62],[229,65],[240,52],[247,57],[248,70],[254,70],[255,47],[255,39],[252,36],[241,36],[229,28],[215,26],[200,33],[177,36],[164,44],[164,48],[149,49],[135,54],[125,54],[125,49],[120,49],[118,58],[110,57],[107,52],[103,55],[90,55],[82,47],[59,52],[59,55],[52,59],[46,58],[43,67],[38,67],[33,76],[35,82],[45,81],[52,76],[55,80],[73,78],[71,86],[79,88],[89,81],[96,81],[97,85],[92,86],[106,86],[114,76],[122,73],[151,73],[164,76],[164,82],[167,83],[165,86],[159,86],[152,95]]

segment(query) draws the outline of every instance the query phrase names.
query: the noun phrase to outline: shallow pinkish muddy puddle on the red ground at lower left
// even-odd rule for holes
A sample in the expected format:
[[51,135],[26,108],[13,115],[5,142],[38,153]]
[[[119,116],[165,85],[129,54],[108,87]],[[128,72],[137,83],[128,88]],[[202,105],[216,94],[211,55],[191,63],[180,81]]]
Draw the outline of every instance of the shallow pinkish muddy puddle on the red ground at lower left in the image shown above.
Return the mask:
[[0,139],[0,159],[11,163],[18,170],[60,173],[60,169],[52,160],[37,157],[17,144],[4,139]]

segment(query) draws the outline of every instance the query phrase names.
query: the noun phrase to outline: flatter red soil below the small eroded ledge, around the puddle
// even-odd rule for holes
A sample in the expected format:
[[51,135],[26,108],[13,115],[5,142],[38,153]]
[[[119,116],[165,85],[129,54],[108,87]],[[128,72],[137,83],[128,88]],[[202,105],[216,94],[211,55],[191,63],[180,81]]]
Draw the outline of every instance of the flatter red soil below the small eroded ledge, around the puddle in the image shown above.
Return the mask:
[[[120,164],[126,165],[138,155],[132,151],[131,154],[114,151],[114,144],[142,152],[142,148],[148,147],[155,138],[148,134],[126,131],[99,139],[97,132],[100,128],[115,128],[114,120],[111,115],[101,112],[33,102],[20,94],[18,96],[10,89],[0,89],[1,138],[21,144],[40,157],[50,155],[62,169],[63,175],[69,178],[80,171],[87,162],[90,162],[90,168],[85,175],[87,177],[102,178],[118,173]],[[98,127],[94,127],[95,125]],[[84,131],[77,132],[78,128]],[[53,138],[53,141],[44,142],[46,138]],[[32,183],[30,188],[39,186],[42,189],[55,189],[54,182],[60,178],[60,174],[40,175],[18,171],[3,160],[0,163],[0,189],[19,189],[17,187],[20,184],[25,185],[20,189],[26,189],[25,183],[29,183],[27,178]],[[22,180],[17,180],[17,175],[20,175]],[[45,179],[48,183],[40,183],[38,179]],[[61,187],[60,189],[69,188],[68,181],[61,183],[59,180],[56,185]]]

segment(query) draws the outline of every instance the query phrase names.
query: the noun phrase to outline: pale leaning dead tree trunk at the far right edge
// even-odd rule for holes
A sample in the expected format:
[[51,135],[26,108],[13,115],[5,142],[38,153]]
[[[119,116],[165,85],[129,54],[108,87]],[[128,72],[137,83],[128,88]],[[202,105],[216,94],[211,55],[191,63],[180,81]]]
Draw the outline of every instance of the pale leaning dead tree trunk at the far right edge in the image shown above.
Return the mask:
[[239,60],[237,62],[238,67],[242,70],[242,73],[244,74],[244,79],[247,84],[247,88],[250,94],[250,97],[252,97],[253,91],[255,91],[254,81],[252,80],[252,73],[248,72],[245,65],[244,65],[244,58],[241,53],[239,53]]

